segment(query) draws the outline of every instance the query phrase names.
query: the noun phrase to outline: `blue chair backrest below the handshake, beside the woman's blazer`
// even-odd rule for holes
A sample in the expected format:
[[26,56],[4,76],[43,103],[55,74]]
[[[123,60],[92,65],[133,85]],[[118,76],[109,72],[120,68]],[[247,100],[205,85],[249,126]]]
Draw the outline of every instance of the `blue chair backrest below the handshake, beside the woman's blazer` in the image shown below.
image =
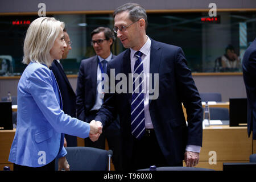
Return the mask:
[[[108,171],[111,150],[93,147],[65,147],[65,149],[68,152],[65,157],[71,171]],[[55,171],[58,168],[58,160],[55,160]]]

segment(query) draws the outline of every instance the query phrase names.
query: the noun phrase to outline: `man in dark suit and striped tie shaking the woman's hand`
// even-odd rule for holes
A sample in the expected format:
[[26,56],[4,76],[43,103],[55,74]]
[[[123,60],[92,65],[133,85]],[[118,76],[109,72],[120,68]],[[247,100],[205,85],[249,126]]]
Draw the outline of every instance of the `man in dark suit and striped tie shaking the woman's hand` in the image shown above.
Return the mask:
[[[133,88],[128,93],[106,93],[95,120],[105,126],[119,114],[125,170],[183,166],[183,159],[187,166],[196,166],[203,134],[199,92],[182,49],[148,38],[146,27],[147,15],[141,5],[126,3],[114,11],[114,32],[127,50],[109,62],[107,72],[109,77],[113,71],[115,76],[123,73],[127,80],[133,73],[134,81],[127,83],[127,88],[131,84]],[[154,74],[152,80],[149,73]],[[153,84],[154,93],[151,81],[159,84]],[[115,88],[118,85],[115,78]]]

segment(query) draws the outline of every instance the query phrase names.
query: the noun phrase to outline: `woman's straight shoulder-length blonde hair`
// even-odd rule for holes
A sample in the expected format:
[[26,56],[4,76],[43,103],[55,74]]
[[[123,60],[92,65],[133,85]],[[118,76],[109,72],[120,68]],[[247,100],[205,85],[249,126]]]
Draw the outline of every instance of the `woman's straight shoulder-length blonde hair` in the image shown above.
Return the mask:
[[34,63],[43,63],[50,67],[52,58],[49,51],[64,27],[64,22],[60,22],[55,18],[40,17],[35,19],[28,27],[24,40],[22,63],[29,64],[32,61]]

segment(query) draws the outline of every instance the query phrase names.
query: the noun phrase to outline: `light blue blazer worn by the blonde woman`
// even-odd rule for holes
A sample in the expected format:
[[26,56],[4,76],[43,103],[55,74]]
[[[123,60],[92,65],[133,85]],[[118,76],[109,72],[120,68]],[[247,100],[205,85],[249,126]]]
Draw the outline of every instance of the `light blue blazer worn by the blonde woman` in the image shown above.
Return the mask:
[[30,63],[18,84],[17,127],[9,161],[42,167],[67,154],[64,134],[89,136],[90,126],[64,114],[55,77],[46,65]]

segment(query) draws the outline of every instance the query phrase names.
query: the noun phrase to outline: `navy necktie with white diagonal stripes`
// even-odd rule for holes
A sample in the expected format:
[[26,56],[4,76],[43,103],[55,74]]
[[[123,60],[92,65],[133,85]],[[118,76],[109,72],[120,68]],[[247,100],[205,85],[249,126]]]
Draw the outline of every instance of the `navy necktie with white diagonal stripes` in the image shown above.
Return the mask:
[[137,60],[134,65],[133,76],[133,94],[131,95],[131,133],[137,139],[141,139],[145,133],[145,115],[144,115],[144,79],[142,52],[137,51],[135,56]]

